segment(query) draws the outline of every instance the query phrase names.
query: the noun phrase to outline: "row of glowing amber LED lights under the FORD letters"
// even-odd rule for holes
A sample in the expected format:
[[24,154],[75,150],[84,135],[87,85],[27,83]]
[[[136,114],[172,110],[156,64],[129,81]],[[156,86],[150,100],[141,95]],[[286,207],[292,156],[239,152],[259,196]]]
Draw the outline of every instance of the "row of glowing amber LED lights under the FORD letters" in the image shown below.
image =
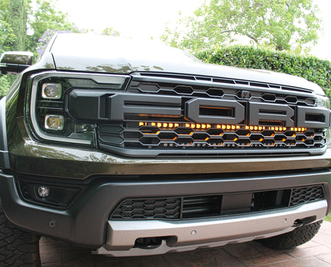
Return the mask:
[[210,128],[223,129],[226,131],[237,131],[238,129],[245,129],[250,131],[276,131],[283,133],[285,131],[295,131],[297,133],[303,133],[308,129],[305,127],[279,127],[279,126],[254,126],[254,125],[212,125],[212,124],[200,124],[200,123],[178,123],[178,122],[139,122],[139,127],[149,126],[158,127],[161,129],[175,129],[177,127],[186,127],[196,130],[205,130]]

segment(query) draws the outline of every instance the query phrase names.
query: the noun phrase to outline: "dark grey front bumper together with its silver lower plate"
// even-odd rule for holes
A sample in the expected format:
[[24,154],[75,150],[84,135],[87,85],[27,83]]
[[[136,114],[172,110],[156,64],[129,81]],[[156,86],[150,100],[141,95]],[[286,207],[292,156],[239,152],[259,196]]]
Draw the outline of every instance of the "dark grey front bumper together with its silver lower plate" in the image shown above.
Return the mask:
[[[209,219],[208,222],[201,220],[191,220],[191,222],[154,222],[143,220],[137,224],[137,235],[130,233],[132,222],[128,225],[125,221],[109,221],[110,214],[122,200],[130,197],[163,197],[164,195],[203,195],[219,193],[237,193],[249,191],[268,191],[273,189],[292,188],[297,186],[308,186],[320,184],[323,186],[325,200],[303,204],[296,208],[282,209],[279,211],[266,211],[265,213],[255,213],[251,215],[239,215],[228,217],[226,220],[220,217]],[[115,249],[123,247],[128,249],[132,246],[132,240],[138,236],[146,237],[143,229],[146,225],[156,229],[153,234],[161,236],[178,235],[179,242],[183,245],[190,243],[190,239],[183,239],[182,235],[187,235],[193,230],[205,235],[210,231],[210,227],[230,229],[230,235],[224,235],[226,231],[219,232],[216,239],[206,235],[205,240],[193,239],[193,243],[217,242],[227,239],[244,238],[248,233],[250,237],[259,236],[273,231],[290,231],[297,219],[303,217],[316,216],[316,220],[321,220],[330,210],[330,169],[319,169],[316,171],[306,171],[298,173],[237,173],[233,175],[219,175],[208,178],[192,178],[188,175],[169,175],[166,178],[159,176],[151,178],[116,178],[112,176],[102,176],[88,184],[88,188],[81,193],[77,199],[66,210],[59,210],[47,206],[28,203],[22,200],[17,189],[14,175],[0,172],[0,194],[3,209],[8,218],[17,226],[28,231],[62,239],[67,242],[88,246],[90,248],[100,248],[105,245]],[[248,216],[248,219],[245,219]],[[270,220],[269,218],[274,218]],[[283,220],[287,218],[287,223]],[[254,220],[253,220],[254,219]],[[241,222],[242,221],[242,222]],[[51,223],[52,222],[52,223]],[[54,224],[55,222],[55,224]],[[203,222],[201,224],[201,222]],[[231,227],[234,223],[233,228]],[[261,223],[261,231],[257,231],[255,223]],[[141,226],[143,225],[143,226]],[[157,225],[157,226],[155,226]],[[269,225],[269,226],[268,226]],[[245,226],[245,227],[243,227]],[[139,230],[139,227],[141,230]],[[144,228],[145,227],[145,228]],[[241,233],[241,228],[246,229]],[[176,230],[177,229],[177,230]],[[286,230],[287,229],[287,230]],[[183,233],[179,233],[183,230]],[[128,243],[121,244],[121,233],[132,235],[128,238]],[[140,232],[139,232],[140,231]],[[107,237],[108,232],[108,237]],[[163,233],[164,232],[164,233]],[[236,234],[237,233],[237,234]],[[146,233],[147,234],[147,233]],[[114,235],[114,237],[112,237]],[[126,235],[123,238],[126,238]],[[148,233],[151,235],[151,233]],[[154,235],[153,235],[154,236]],[[114,244],[112,244],[114,242]]]

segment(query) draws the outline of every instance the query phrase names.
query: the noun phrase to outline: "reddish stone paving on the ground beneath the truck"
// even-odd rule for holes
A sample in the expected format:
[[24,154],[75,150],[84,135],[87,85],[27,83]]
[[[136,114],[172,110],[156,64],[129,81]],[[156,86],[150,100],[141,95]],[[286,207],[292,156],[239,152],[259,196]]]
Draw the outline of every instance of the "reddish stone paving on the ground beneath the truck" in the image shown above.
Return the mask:
[[52,239],[41,238],[42,267],[174,267],[174,266],[331,266],[331,222],[323,222],[319,233],[308,243],[290,250],[272,250],[258,242],[230,244],[148,257],[114,258],[92,255]]

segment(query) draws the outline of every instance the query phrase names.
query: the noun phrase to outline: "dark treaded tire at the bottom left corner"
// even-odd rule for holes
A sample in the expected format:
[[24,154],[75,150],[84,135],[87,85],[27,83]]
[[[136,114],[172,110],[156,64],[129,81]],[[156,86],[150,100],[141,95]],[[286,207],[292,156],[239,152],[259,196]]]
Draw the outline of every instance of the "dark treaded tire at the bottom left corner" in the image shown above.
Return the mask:
[[9,222],[0,202],[0,267],[39,267],[39,238]]

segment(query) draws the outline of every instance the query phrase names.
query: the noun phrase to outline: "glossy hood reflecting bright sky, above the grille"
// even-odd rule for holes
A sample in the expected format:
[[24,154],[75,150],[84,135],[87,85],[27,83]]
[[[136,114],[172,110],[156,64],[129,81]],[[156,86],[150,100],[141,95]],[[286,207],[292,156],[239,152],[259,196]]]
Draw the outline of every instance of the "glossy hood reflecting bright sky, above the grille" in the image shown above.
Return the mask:
[[121,39],[96,34],[59,34],[50,45],[57,70],[130,74],[167,72],[273,83],[310,89],[323,94],[304,78],[237,67],[201,63],[183,50],[154,42]]

